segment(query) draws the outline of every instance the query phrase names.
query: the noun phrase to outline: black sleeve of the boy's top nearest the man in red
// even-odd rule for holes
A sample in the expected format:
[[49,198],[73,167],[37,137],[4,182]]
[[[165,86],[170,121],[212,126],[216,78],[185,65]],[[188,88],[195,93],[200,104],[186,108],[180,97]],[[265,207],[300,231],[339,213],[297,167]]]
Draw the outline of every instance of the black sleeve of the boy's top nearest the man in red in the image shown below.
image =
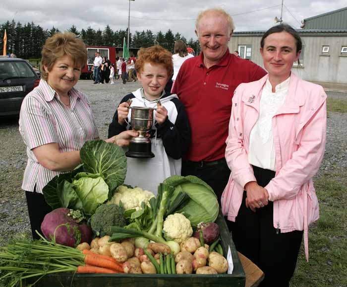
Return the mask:
[[183,104],[173,99],[177,109],[177,118],[173,124],[169,118],[162,125],[157,125],[158,134],[162,137],[166,153],[179,159],[188,151],[190,144],[190,126]]

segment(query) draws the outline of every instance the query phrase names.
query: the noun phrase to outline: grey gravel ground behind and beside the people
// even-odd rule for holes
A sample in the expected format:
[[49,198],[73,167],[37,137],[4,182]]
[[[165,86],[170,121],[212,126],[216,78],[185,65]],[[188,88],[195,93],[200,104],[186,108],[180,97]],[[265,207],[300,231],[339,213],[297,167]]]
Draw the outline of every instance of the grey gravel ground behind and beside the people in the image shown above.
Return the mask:
[[[125,85],[117,80],[111,84],[93,84],[80,80],[77,85],[90,99],[100,138],[105,139],[116,105],[127,93],[140,87],[139,82]],[[347,100],[347,93],[328,92],[328,96]],[[347,169],[347,114],[329,113],[327,145],[319,174]],[[18,132],[18,118],[0,118],[0,245],[18,234],[30,234],[30,223],[22,176],[26,165],[25,146]]]

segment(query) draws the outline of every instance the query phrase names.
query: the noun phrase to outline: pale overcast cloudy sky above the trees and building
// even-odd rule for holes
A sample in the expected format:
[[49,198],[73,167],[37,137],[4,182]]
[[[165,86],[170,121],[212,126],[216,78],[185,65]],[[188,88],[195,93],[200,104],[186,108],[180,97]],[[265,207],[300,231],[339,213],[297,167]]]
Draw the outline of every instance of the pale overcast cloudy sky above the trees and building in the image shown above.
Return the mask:
[[[282,0],[135,0],[130,1],[130,31],[166,32],[169,28],[189,40],[199,11],[222,7],[233,17],[235,31],[265,30],[281,16]],[[97,3],[97,4],[96,4]],[[347,0],[284,0],[283,20],[299,28],[301,20],[347,6]],[[44,29],[60,31],[75,25],[78,30],[115,31],[128,25],[129,0],[0,0],[0,24],[14,19],[33,21]]]

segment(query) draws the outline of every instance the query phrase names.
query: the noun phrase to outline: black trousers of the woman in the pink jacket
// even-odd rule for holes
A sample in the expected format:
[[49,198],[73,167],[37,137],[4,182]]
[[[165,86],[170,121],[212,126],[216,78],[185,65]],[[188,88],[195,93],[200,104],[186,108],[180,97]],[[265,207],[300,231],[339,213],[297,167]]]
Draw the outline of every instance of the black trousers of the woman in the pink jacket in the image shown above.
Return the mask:
[[[260,186],[265,187],[275,176],[272,170],[253,166]],[[274,227],[274,203],[257,209],[246,208],[246,192],[235,222],[228,221],[236,250],[248,257],[265,274],[259,287],[289,287],[294,274],[303,231],[281,233]],[[276,204],[276,202],[275,202]],[[281,211],[280,211],[281,212]]]

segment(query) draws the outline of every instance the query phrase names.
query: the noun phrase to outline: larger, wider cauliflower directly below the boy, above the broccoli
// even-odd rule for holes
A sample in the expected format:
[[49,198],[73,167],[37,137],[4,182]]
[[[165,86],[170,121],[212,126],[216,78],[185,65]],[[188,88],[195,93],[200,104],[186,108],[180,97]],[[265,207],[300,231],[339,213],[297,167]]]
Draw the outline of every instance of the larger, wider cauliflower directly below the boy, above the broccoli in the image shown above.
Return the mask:
[[119,205],[121,201],[125,210],[141,208],[141,202],[148,204],[149,200],[155,197],[154,194],[148,190],[143,190],[140,187],[127,188],[120,185],[116,188],[116,193],[108,203]]

